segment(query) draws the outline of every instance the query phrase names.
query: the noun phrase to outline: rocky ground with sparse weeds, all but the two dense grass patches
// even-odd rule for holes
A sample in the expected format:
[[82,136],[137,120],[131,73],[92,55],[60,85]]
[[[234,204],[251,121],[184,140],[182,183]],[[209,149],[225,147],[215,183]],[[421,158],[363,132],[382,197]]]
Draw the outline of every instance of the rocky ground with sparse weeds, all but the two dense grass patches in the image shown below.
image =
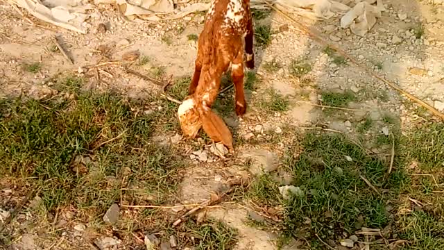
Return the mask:
[[[320,22],[298,20],[321,33],[327,42],[357,58],[359,63],[437,110],[444,111],[444,33],[441,32],[444,28],[444,6],[427,1],[384,1],[384,6],[386,11],[382,12],[377,24],[364,37],[340,28],[338,17]],[[278,249],[282,245],[287,249],[440,249],[444,245],[442,233],[434,234],[436,238],[429,240],[438,243],[429,245],[415,244],[415,241],[422,242],[420,236],[411,237],[409,233],[391,233],[388,238],[382,237],[386,240],[384,243],[381,243],[381,239],[377,242],[379,236],[375,236],[374,232],[368,233],[372,237],[370,240],[377,242],[375,244],[365,244],[368,236],[349,231],[323,234],[321,230],[309,236],[302,233],[298,237],[291,235],[288,238],[289,225],[293,225],[285,219],[291,215],[287,210],[290,205],[286,201],[281,202],[287,199],[287,189],[296,194],[302,192],[302,186],[296,185],[300,183],[300,177],[296,174],[303,176],[305,172],[290,167],[297,164],[289,163],[288,152],[303,155],[303,149],[312,145],[305,144],[307,133],[321,131],[339,134],[358,142],[366,153],[382,159],[385,167],[393,165],[390,163],[393,155],[391,149],[392,142],[396,142],[397,146],[393,148],[397,152],[395,166],[401,168],[404,164],[401,155],[405,152],[398,151],[402,150],[398,142],[402,141],[402,136],[409,134],[411,128],[435,119],[426,110],[369,76],[325,44],[312,40],[282,15],[270,10],[256,11],[255,27],[261,28],[256,29],[256,67],[254,72],[246,74],[246,94],[250,105],[248,113],[244,119],[236,117],[231,90],[221,94],[215,104],[234,134],[236,153],[228,155],[223,147],[208,143],[205,135],[194,141],[183,139],[177,121],[170,112],[176,108],[176,103],[160,97],[162,84],[170,76],[173,81],[166,88],[167,94],[179,100],[185,97],[189,81],[187,77],[194,71],[196,38],[203,28],[205,14],[193,14],[171,22],[136,24],[125,22],[112,6],[101,5],[97,13],[99,15],[89,20],[89,33],[79,35],[42,24],[33,17],[24,19],[10,4],[0,3],[0,15],[3,17],[0,20],[0,97],[21,96],[41,101],[63,97],[76,100],[74,89],[80,88],[83,91],[99,90],[101,93],[117,91],[123,94],[124,99],[144,103],[143,106],[128,105],[132,112],[154,115],[157,119],[155,126],[159,128],[153,128],[151,139],[157,145],[171,147],[182,157],[182,168],[174,170],[177,171],[174,174],[180,176],[173,181],[180,180],[180,183],[174,183],[177,192],[171,194],[173,198],[168,199],[169,202],[160,203],[161,206],[178,207],[162,212],[162,216],[169,219],[151,217],[148,210],[128,207],[157,203],[149,197],[151,194],[146,193],[135,192],[131,194],[133,198],[128,198],[131,196],[128,190],[143,189],[146,183],[126,183],[124,176],[128,172],[122,167],[114,170],[114,174],[108,172],[103,177],[108,184],[95,191],[117,187],[120,192],[117,196],[110,196],[112,199],[108,197],[109,200],[103,201],[99,212],[89,214],[89,208],[80,208],[74,203],[49,208],[48,198],[44,194],[37,190],[37,194],[29,192],[32,185],[28,185],[26,178],[38,176],[14,174],[5,170],[8,167],[3,167],[1,173],[5,177],[0,178],[0,232],[3,238],[8,239],[3,240],[6,249],[146,249],[151,246],[160,246],[160,249],[223,249],[221,246],[227,249]],[[69,63],[55,47],[53,35],[56,34],[74,63]],[[149,79],[133,72],[139,72]],[[60,81],[66,76],[82,80]],[[227,85],[230,80],[223,81]],[[10,110],[2,110],[2,117],[6,121],[9,116],[5,114]],[[441,131],[432,132],[425,131],[424,134],[441,136]],[[427,137],[422,140],[427,141]],[[414,143],[421,145],[421,142]],[[432,142],[432,147],[435,144]],[[327,151],[330,146],[323,147]],[[339,146],[332,146],[331,150],[336,148]],[[429,172],[415,169],[414,164],[421,164],[422,158],[415,153],[407,154],[409,157],[415,156],[419,162],[405,163],[410,167],[407,172],[415,176],[434,176],[433,191],[427,193],[429,196],[422,197],[422,194],[404,190],[393,194],[396,198],[384,200],[386,213],[391,214],[388,217],[392,219],[404,215],[403,209],[413,211],[426,205],[443,208],[443,201],[436,198],[442,192],[441,169],[429,169]],[[438,149],[434,155],[439,155]],[[168,154],[163,156],[170,157]],[[349,162],[362,157],[364,163],[367,159],[364,156],[345,156]],[[327,161],[322,155],[318,158],[324,164]],[[74,159],[74,162],[79,166],[89,166],[86,172],[90,177],[94,172],[90,165],[99,164],[100,159],[99,156],[82,156]],[[162,164],[159,163],[160,166],[169,165]],[[318,166],[311,167],[316,169]],[[103,170],[97,168],[98,172]],[[334,169],[336,172],[343,171],[341,168]],[[77,174],[79,172],[81,170],[76,170]],[[260,184],[263,179],[266,180],[264,185]],[[371,181],[370,187],[363,184],[370,192],[375,189]],[[271,191],[264,188],[270,185],[269,182],[273,183]],[[422,183],[412,181],[416,182]],[[172,187],[173,183],[170,184]],[[390,188],[376,186],[380,192]],[[122,194],[126,191],[128,194]],[[229,199],[223,198],[223,194],[227,194]],[[81,194],[78,195],[81,197]],[[191,225],[193,221],[179,227],[177,232],[173,227],[161,226],[162,222],[170,223],[171,219],[174,221],[178,215],[186,212],[187,208],[181,205],[202,203],[210,197],[218,202],[207,209],[206,215],[198,213],[196,217],[197,224],[203,221],[207,224],[196,227]],[[388,209],[388,206],[395,206],[391,203],[393,199],[397,201],[394,202],[396,208]],[[309,205],[303,209],[309,209]],[[436,223],[442,224],[442,210],[434,211]],[[327,213],[325,217],[328,217]],[[309,224],[316,228],[315,216],[304,215],[303,218],[302,225]],[[214,226],[219,221],[224,224]],[[400,223],[400,220],[396,222]],[[369,228],[384,230],[388,230],[388,226],[399,226],[395,222],[384,223],[366,221],[364,224]],[[216,233],[211,232],[217,237],[205,244],[196,243],[196,239],[205,238],[202,236],[205,235],[203,230],[207,230],[205,228],[215,230]],[[286,244],[280,244],[286,230]],[[292,230],[296,231],[294,228]],[[231,242],[232,239],[236,239],[236,242]],[[391,239],[393,241],[389,242]]]

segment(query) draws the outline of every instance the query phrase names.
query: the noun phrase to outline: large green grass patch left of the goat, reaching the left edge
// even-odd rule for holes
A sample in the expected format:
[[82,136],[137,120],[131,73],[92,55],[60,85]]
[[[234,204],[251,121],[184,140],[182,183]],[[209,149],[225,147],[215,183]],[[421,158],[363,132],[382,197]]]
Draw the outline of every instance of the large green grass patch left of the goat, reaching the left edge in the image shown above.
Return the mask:
[[[0,117],[0,176],[40,190],[49,212],[74,206],[81,215],[99,216],[119,200],[122,176],[142,185],[150,202],[171,199],[182,159],[150,140],[163,114],[133,112],[134,104],[119,95],[81,92],[75,101],[3,105],[11,113]],[[129,191],[123,197],[141,200]]]

